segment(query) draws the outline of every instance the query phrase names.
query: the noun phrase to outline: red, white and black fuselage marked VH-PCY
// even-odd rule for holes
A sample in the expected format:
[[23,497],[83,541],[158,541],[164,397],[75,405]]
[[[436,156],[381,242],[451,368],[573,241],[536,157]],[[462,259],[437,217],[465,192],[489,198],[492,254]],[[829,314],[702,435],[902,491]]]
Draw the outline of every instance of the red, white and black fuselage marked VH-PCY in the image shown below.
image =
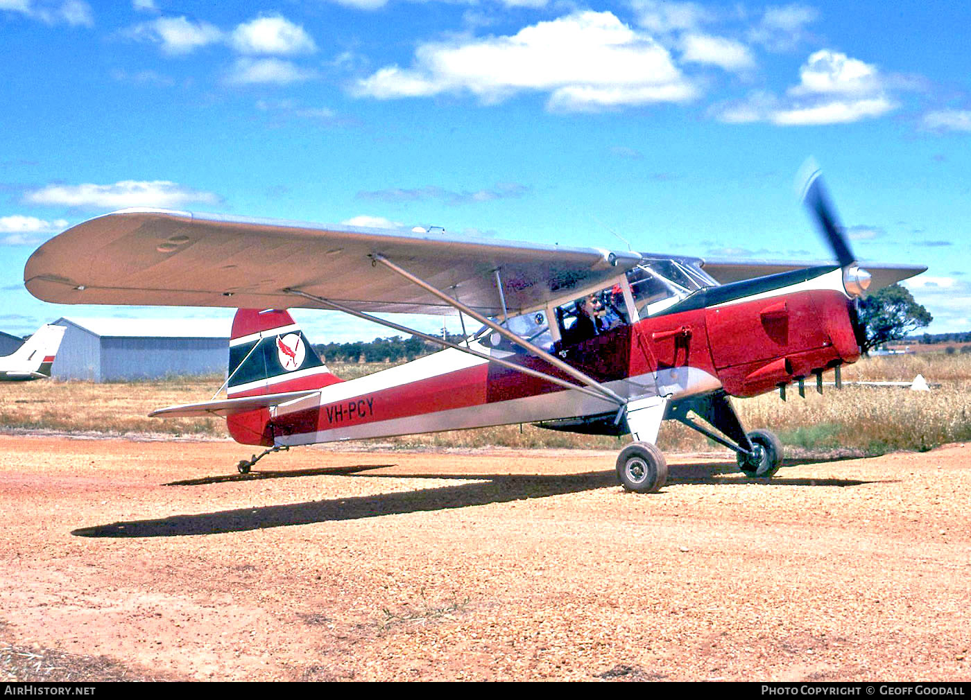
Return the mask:
[[[700,289],[580,342],[557,341],[551,350],[625,399],[676,402],[715,391],[748,397],[854,362],[859,349],[852,315],[841,268],[812,268]],[[524,350],[491,347],[487,337],[470,340],[470,349],[567,378]],[[307,383],[307,376],[281,377],[270,388],[296,390]],[[240,442],[292,446],[617,409],[607,398],[448,349],[229,423]]]

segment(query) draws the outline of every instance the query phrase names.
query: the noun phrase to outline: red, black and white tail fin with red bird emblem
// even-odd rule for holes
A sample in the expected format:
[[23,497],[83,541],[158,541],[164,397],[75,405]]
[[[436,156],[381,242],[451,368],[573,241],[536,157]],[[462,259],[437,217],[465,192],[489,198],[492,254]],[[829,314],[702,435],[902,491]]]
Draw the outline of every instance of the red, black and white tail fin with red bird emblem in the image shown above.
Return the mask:
[[285,311],[240,309],[229,338],[229,398],[340,382]]

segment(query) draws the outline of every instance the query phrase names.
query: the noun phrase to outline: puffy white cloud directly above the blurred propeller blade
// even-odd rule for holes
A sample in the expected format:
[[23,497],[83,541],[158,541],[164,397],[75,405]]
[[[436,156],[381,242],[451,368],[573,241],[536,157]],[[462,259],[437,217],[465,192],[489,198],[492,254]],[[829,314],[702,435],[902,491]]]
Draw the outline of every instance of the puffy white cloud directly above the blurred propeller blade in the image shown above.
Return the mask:
[[800,82],[782,99],[755,91],[716,105],[711,114],[729,123],[767,121],[780,126],[837,124],[881,117],[897,108],[887,77],[845,53],[819,50],[799,70]]

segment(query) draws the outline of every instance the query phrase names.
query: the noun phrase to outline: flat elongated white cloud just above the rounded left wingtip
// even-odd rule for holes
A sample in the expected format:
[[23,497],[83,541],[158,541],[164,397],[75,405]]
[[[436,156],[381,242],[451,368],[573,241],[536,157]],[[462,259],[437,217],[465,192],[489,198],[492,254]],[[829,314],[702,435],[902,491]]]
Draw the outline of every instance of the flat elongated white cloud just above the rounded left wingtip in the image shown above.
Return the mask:
[[192,189],[166,180],[124,180],[114,184],[49,184],[23,197],[28,204],[77,207],[82,209],[125,209],[127,207],[183,207],[189,203],[218,204],[213,192]]

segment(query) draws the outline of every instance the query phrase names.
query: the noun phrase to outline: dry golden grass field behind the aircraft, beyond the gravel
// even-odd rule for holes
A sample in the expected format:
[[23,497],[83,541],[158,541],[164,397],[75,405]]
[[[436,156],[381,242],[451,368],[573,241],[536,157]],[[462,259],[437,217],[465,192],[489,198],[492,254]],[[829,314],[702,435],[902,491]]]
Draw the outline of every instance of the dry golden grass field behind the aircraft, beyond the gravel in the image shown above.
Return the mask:
[[[353,379],[387,365],[334,365],[334,372]],[[818,395],[807,385],[802,399],[790,387],[788,400],[778,394],[736,400],[749,428],[776,431],[793,453],[843,452],[881,454],[890,450],[929,450],[971,439],[971,355],[919,354],[864,359],[847,367],[852,382],[911,381],[918,374],[938,383],[929,392],[901,388],[826,386]],[[831,381],[832,377],[827,377]],[[209,399],[219,377],[173,378],[159,382],[87,383],[29,382],[7,384],[0,392],[0,429],[44,429],[67,433],[132,435],[157,433],[179,437],[225,437],[218,418],[149,418],[155,408]],[[379,441],[382,446],[603,449],[614,450],[616,438],[580,436],[508,425]],[[364,442],[363,446],[375,445]],[[683,425],[665,423],[659,444],[664,450],[709,450],[711,444]]]

